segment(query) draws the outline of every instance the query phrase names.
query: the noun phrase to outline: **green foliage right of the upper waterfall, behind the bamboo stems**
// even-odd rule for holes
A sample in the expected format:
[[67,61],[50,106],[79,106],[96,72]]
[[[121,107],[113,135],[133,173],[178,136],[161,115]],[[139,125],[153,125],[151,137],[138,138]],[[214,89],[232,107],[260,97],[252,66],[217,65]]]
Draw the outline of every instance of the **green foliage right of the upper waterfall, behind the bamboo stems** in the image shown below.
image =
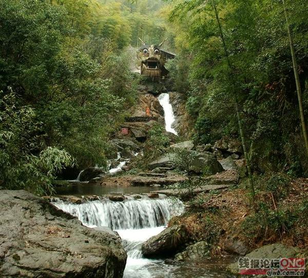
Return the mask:
[[[304,145],[298,100],[281,3],[270,0],[258,4],[255,0],[215,3],[232,72],[223,53],[211,1],[172,1],[170,14],[179,30],[175,40],[187,38],[186,44],[177,46],[179,52],[190,56],[186,108],[198,123],[196,141],[239,137],[232,94],[235,87],[254,168],[261,172],[283,169],[294,176],[302,175],[307,165],[301,151]],[[308,10],[302,0],[286,1],[286,5],[300,83],[306,92]],[[307,114],[305,93],[303,100]],[[210,138],[206,138],[209,133]]]

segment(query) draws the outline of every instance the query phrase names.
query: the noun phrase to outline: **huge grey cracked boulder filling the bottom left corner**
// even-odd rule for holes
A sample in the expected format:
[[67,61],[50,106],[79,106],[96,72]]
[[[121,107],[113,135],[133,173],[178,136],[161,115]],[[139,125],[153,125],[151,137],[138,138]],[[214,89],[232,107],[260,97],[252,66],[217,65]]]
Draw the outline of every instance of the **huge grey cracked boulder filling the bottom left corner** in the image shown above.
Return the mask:
[[120,278],[117,236],[82,225],[25,190],[0,193],[0,276]]

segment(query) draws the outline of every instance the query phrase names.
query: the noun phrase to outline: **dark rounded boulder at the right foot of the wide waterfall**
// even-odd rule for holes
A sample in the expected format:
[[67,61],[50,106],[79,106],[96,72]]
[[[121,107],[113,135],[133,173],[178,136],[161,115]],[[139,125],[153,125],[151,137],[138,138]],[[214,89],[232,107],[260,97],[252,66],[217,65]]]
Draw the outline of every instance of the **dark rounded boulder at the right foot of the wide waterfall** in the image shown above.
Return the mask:
[[142,254],[156,258],[173,255],[183,248],[187,236],[188,233],[184,225],[168,227],[142,244]]

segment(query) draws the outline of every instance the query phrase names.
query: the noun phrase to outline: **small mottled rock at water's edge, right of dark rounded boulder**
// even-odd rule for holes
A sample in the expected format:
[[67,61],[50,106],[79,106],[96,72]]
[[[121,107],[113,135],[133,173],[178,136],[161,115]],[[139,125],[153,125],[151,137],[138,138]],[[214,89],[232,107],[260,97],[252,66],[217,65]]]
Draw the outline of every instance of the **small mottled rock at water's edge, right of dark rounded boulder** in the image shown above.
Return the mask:
[[205,241],[200,241],[187,246],[183,252],[176,254],[175,260],[183,262],[195,259],[209,258],[209,252],[210,245]]

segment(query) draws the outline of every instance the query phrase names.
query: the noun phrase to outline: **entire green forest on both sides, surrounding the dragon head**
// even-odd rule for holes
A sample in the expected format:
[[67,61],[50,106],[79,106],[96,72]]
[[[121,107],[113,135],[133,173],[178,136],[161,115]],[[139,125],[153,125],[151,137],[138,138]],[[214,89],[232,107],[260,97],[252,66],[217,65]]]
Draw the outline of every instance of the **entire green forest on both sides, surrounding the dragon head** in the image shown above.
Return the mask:
[[[306,115],[308,7],[286,9]],[[240,139],[235,90],[254,171],[306,174],[281,1],[3,0],[0,26],[0,185],[48,193],[64,166],[106,163],[108,138],[136,102],[139,37],[167,37],[177,53],[167,68],[196,143]]]

